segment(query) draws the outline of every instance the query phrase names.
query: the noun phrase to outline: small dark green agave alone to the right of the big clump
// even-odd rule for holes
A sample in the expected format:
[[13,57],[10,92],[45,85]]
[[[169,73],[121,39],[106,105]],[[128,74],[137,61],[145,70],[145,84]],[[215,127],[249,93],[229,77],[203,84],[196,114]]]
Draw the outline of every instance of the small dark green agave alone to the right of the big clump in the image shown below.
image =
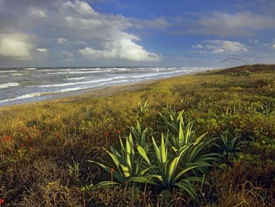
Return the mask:
[[237,139],[239,136],[235,136],[234,138],[231,138],[228,140],[228,135],[227,134],[221,134],[221,142],[222,144],[219,145],[217,143],[214,143],[213,145],[221,149],[221,151],[225,152],[235,152],[235,151],[240,151],[241,147],[246,141],[239,141],[237,142]]

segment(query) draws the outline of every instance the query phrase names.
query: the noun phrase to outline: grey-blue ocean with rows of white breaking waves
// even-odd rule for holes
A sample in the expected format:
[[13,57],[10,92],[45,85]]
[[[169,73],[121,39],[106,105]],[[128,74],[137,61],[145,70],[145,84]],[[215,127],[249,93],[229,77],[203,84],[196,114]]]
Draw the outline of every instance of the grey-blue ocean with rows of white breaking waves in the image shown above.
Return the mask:
[[0,106],[55,99],[121,84],[207,71],[208,67],[0,68]]

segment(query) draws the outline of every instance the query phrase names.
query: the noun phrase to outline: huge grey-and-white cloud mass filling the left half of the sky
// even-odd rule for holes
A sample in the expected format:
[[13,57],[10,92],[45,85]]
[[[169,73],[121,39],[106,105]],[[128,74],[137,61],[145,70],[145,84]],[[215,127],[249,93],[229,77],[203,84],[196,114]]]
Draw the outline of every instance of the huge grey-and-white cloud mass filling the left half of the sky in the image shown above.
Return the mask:
[[[15,1],[7,2],[6,8],[17,8]],[[17,53],[5,51],[5,56],[30,58],[32,47],[35,47],[35,51],[40,53],[45,53],[48,49],[61,53],[66,60],[83,57],[87,60],[92,57],[94,60],[104,58],[135,62],[159,60],[155,53],[147,51],[139,44],[139,37],[127,32],[127,29],[133,25],[124,16],[97,12],[85,1],[56,0],[48,1],[48,3],[43,2],[34,3],[30,0],[18,9],[18,14],[16,12],[13,15],[9,12],[0,14],[0,17],[4,15],[6,20],[14,20],[8,22],[0,18],[0,26],[2,23],[4,28],[8,28],[10,34],[16,33],[17,31],[14,30],[17,28],[21,33],[34,32],[34,34],[38,34],[36,40],[32,42],[20,40],[22,43],[21,53],[19,53],[20,50]],[[26,14],[22,21],[19,13]],[[162,24],[160,19],[157,22]],[[15,44],[14,41],[12,44]],[[19,40],[17,43],[19,44]],[[11,43],[3,40],[2,47],[6,48],[8,44]],[[40,45],[47,47],[47,49],[40,47]],[[81,45],[85,45],[85,47],[81,47]],[[78,51],[78,56],[75,57],[69,51]],[[2,50],[2,56],[3,53]]]

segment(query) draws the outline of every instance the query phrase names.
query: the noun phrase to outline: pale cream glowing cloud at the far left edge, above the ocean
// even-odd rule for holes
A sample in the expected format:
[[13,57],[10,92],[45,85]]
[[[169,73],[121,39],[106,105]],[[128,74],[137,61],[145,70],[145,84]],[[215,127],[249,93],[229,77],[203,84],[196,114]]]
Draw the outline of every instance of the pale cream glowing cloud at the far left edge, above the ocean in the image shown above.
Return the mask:
[[32,43],[24,34],[8,34],[0,36],[0,56],[17,59],[32,59]]

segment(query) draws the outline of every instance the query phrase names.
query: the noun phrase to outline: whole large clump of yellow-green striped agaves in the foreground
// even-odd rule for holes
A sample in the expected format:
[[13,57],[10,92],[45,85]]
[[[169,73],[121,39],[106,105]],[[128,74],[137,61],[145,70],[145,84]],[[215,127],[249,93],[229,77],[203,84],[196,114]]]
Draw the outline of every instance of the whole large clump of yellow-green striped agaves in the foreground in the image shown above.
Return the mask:
[[[173,117],[173,114],[170,114],[169,117]],[[153,136],[151,143],[145,140],[146,136],[137,136],[136,132],[145,134],[141,133],[139,122],[137,122],[137,129],[130,127],[131,132],[135,134],[134,139],[130,134],[123,144],[122,138],[120,138],[120,151],[112,146],[110,147],[111,151],[107,150],[115,170],[93,160],[90,162],[98,164],[122,184],[131,184],[132,182],[152,184],[162,190],[178,187],[186,191],[193,199],[197,199],[192,182],[201,182],[202,178],[197,177],[194,170],[203,171],[204,167],[210,166],[211,161],[217,160],[218,154],[200,154],[213,139],[203,141],[205,134],[196,137],[195,131],[192,130],[192,122],[184,125],[181,112],[177,119],[179,120],[178,125],[175,125],[174,120],[170,123],[165,119],[167,125],[172,125],[179,130],[177,130],[176,136],[164,135],[161,132],[159,146]],[[116,184],[116,182],[113,180],[103,181],[95,186],[91,184],[84,190],[94,190],[98,186],[108,184]]]

